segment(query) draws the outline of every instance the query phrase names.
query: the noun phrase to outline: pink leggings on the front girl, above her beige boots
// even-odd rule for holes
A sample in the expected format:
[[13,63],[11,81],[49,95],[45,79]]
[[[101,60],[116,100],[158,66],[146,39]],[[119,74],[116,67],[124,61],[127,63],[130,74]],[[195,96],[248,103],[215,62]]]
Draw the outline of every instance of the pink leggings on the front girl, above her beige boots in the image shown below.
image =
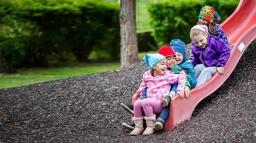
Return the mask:
[[142,111],[145,112],[145,117],[153,117],[154,113],[159,115],[162,110],[163,106],[155,98],[136,100],[133,103],[134,117],[142,117]]

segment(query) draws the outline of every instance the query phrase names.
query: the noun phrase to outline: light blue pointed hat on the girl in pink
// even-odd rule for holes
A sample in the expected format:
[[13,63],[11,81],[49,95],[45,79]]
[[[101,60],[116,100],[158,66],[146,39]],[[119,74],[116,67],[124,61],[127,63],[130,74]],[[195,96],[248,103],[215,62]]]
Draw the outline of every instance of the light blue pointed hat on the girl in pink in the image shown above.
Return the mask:
[[152,69],[155,64],[163,59],[166,58],[161,54],[146,54],[143,58],[143,60],[145,60],[145,63],[149,66],[149,69]]

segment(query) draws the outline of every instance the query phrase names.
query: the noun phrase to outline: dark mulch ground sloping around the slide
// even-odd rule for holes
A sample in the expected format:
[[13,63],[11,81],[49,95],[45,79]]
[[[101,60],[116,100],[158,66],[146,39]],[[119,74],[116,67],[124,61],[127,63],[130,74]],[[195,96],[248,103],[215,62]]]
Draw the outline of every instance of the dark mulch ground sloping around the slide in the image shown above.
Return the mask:
[[[0,90],[0,141],[256,143],[256,40],[229,79],[173,131],[130,136],[131,102],[144,62],[120,70]],[[188,50],[189,51],[189,50]]]

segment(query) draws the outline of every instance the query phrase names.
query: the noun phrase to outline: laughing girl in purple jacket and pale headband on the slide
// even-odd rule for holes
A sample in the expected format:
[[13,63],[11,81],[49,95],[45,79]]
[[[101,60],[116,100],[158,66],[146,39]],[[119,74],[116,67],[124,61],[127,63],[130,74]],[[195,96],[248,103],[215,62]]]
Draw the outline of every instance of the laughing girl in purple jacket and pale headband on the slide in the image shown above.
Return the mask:
[[217,36],[208,33],[207,26],[196,25],[190,31],[194,56],[191,61],[197,77],[196,87],[207,82],[218,71],[224,74],[224,66],[229,59],[229,47]]

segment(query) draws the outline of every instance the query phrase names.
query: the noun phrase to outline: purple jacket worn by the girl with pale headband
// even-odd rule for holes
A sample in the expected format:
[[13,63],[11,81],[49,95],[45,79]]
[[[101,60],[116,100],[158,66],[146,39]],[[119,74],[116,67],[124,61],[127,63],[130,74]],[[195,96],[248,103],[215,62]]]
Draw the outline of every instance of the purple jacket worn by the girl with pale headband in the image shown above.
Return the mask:
[[191,47],[194,56],[191,61],[193,67],[198,64],[203,64],[206,67],[220,66],[224,67],[230,56],[229,47],[222,39],[208,33],[207,45],[204,49],[196,45]]

